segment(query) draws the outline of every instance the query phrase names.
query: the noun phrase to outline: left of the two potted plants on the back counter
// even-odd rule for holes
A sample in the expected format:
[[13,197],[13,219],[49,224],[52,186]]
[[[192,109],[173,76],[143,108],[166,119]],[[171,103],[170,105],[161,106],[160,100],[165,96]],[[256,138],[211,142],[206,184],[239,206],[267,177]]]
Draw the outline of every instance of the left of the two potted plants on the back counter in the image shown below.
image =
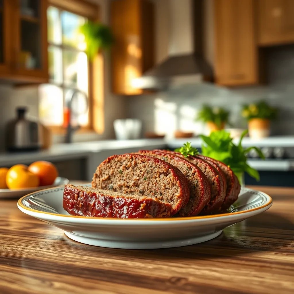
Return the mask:
[[209,131],[222,130],[228,122],[229,112],[221,107],[203,105],[196,120],[207,124]]

